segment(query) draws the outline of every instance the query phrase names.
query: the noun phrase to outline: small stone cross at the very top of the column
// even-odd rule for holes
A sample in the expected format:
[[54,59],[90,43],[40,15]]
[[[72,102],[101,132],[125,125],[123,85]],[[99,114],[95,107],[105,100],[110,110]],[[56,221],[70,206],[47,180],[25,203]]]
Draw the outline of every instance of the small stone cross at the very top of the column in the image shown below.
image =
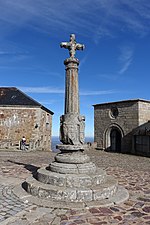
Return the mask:
[[71,58],[75,57],[76,50],[85,48],[83,44],[76,43],[75,34],[70,35],[70,42],[61,42],[60,47],[68,49]]

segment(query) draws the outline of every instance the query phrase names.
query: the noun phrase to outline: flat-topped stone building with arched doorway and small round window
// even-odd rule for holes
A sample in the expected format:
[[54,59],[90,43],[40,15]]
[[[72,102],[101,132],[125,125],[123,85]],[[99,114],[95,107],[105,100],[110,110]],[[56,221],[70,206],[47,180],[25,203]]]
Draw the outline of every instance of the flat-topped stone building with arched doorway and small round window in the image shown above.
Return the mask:
[[150,130],[149,120],[150,101],[147,100],[94,105],[94,141],[97,142],[97,148],[150,155],[150,132],[143,132],[145,126]]

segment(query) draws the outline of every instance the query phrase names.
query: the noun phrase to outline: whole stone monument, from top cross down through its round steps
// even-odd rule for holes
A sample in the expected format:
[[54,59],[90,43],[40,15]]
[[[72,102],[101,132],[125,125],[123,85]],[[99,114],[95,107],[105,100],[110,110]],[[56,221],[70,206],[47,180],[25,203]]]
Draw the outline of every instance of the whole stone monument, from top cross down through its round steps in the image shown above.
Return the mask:
[[97,168],[84,153],[85,117],[80,115],[78,65],[76,50],[84,45],[76,43],[75,35],[61,47],[69,50],[66,67],[65,110],[60,118],[60,152],[55,161],[40,168],[35,177],[26,180],[26,191],[33,196],[53,202],[55,206],[85,207],[112,205],[128,199],[127,190],[116,179]]

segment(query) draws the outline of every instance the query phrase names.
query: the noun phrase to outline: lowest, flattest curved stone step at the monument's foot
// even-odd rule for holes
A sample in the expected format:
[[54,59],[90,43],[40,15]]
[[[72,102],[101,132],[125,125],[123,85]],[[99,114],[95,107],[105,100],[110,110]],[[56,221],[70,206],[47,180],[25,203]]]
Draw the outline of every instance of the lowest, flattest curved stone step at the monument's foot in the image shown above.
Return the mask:
[[118,185],[116,193],[107,199],[97,200],[97,201],[80,201],[80,202],[67,202],[67,201],[55,201],[55,199],[45,199],[38,198],[37,196],[33,196],[28,194],[25,190],[22,189],[20,185],[15,186],[13,189],[13,193],[21,198],[24,201],[32,202],[32,204],[39,205],[42,207],[49,208],[62,208],[62,209],[85,209],[85,208],[93,208],[93,207],[107,207],[113,206],[116,204],[121,204],[129,198],[128,191]]

